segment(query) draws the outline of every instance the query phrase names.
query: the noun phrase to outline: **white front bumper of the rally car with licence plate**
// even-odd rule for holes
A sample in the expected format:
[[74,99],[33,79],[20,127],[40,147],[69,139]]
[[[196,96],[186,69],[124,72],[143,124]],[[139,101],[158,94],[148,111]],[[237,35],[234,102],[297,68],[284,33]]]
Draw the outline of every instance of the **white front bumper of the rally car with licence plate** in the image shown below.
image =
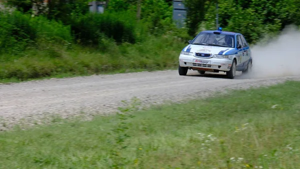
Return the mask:
[[180,67],[189,67],[192,70],[201,70],[207,72],[229,71],[232,60],[218,58],[197,58],[193,56],[180,55]]

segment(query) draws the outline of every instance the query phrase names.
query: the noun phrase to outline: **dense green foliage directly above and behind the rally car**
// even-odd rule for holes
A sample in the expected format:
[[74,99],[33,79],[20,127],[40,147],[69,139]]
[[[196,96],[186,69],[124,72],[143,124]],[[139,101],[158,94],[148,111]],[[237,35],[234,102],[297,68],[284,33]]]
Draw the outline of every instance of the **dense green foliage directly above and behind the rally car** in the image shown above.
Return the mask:
[[[216,29],[216,1],[186,0],[189,35]],[[219,26],[240,32],[249,43],[276,35],[285,26],[300,25],[300,0],[218,0]],[[201,29],[200,29],[201,28]]]

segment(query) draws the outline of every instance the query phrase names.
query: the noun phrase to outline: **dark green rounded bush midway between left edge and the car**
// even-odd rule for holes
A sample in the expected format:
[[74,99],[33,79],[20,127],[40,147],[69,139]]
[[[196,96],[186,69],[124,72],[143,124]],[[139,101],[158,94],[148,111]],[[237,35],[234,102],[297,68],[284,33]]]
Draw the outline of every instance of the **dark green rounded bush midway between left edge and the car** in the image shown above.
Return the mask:
[[116,43],[136,42],[137,23],[135,16],[128,13],[87,14],[73,21],[71,28],[78,42],[98,45],[101,38],[113,39]]

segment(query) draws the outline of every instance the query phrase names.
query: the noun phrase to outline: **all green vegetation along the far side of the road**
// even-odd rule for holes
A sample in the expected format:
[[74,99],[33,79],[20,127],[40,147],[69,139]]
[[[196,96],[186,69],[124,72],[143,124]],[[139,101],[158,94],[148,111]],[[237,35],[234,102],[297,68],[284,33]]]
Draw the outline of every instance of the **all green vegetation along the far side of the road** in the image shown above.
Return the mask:
[[[173,24],[170,0],[141,0],[139,17],[137,0],[106,1],[104,14],[90,14],[89,0],[51,0],[47,10],[38,2],[42,1],[8,0],[7,4],[16,6],[17,12],[0,13],[0,78],[24,80],[60,73],[92,74],[123,70],[124,67],[130,70],[173,68],[188,39],[204,29],[216,28],[215,1],[186,0],[188,11],[184,29],[177,29]],[[32,3],[40,8],[33,16]],[[300,25],[300,0],[218,0],[218,7],[219,26],[225,31],[242,33],[250,44],[274,37],[286,25]],[[172,45],[163,48],[167,44]],[[141,54],[138,50],[148,51]],[[77,56],[88,51],[88,57],[79,57],[85,60],[84,64],[74,66],[82,63]],[[128,55],[127,51],[138,52]],[[165,54],[172,55],[164,61]],[[97,55],[109,59],[87,63],[97,60],[94,59]],[[115,55],[131,58],[124,59],[131,63],[115,64],[116,59],[123,62]],[[157,61],[154,58],[159,58],[161,65],[172,64],[166,64],[170,67],[153,66]],[[141,64],[144,59],[146,63]],[[108,61],[112,63],[106,64]],[[72,66],[68,68],[67,65]]]

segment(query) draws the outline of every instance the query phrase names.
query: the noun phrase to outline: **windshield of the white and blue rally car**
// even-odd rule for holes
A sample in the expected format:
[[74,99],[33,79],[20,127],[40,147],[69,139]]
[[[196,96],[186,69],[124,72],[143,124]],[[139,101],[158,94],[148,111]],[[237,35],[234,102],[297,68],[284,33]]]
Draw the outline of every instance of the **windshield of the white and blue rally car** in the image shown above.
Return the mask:
[[200,33],[196,36],[193,45],[212,45],[234,48],[234,36],[225,34]]

